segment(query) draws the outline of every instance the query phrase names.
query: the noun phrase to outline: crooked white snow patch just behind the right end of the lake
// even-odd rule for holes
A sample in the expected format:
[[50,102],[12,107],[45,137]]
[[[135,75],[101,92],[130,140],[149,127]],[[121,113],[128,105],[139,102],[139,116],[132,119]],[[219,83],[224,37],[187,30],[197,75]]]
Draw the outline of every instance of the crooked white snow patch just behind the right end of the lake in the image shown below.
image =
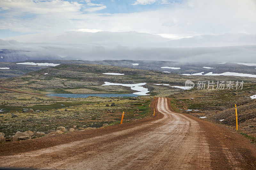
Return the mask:
[[141,85],[146,85],[147,83],[138,83],[138,84],[121,84],[121,83],[109,83],[109,82],[104,82],[105,84],[104,85],[122,85],[122,86],[126,86],[126,87],[131,87],[132,90],[136,90],[136,91],[139,91],[139,92],[135,92],[133,94],[138,94],[138,95],[149,95],[149,94],[146,94],[148,93],[148,89],[147,88],[144,88],[144,87],[141,87]]

